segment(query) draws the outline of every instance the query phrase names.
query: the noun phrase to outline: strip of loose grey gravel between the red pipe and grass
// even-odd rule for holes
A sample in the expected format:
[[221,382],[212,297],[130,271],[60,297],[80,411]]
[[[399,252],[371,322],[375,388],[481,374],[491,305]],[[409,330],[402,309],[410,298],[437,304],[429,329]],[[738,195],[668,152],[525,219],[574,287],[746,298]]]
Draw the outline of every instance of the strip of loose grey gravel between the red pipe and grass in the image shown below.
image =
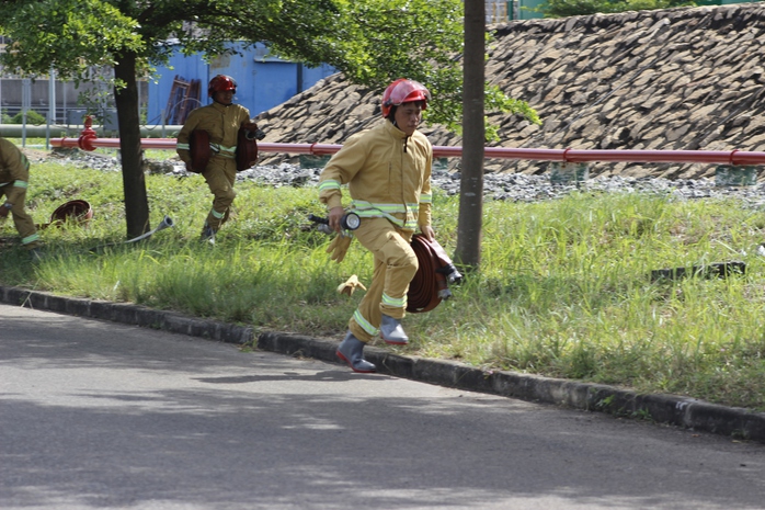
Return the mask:
[[[48,159],[80,168],[122,171],[117,158],[93,152],[55,154]],[[172,174],[179,178],[191,175],[178,159],[147,160],[146,170],[150,173]],[[237,181],[253,181],[272,186],[316,186],[320,172],[321,169],[304,169],[289,163],[258,166],[239,172]],[[458,172],[449,173],[445,170],[435,170],[432,182],[434,188],[442,189],[448,195],[459,193],[460,175]],[[488,200],[537,202],[558,199],[574,190],[604,193],[653,192],[672,195],[677,200],[737,196],[752,207],[765,206],[765,183],[750,186],[719,186],[715,179],[708,178],[669,180],[650,177],[610,175],[587,179],[576,185],[576,183],[551,182],[548,174],[529,175],[523,173],[488,173],[483,179],[483,193]]]

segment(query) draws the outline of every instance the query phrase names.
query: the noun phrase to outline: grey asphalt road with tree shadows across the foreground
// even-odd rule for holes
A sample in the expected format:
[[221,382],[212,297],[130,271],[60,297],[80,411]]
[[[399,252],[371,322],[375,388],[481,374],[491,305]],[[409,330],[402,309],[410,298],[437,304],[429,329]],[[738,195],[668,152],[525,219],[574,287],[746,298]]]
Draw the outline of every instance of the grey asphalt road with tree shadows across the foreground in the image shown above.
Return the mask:
[[765,508],[765,445],[0,304],[2,509]]

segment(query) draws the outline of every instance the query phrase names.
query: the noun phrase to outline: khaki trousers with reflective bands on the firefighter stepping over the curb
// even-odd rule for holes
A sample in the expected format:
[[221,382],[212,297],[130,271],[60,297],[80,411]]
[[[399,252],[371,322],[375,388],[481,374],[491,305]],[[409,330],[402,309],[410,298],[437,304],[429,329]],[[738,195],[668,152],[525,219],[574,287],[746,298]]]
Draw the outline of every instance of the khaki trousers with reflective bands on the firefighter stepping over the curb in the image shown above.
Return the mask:
[[407,292],[419,267],[410,246],[413,234],[385,218],[364,218],[354,233],[358,242],[375,257],[369,290],[349,320],[349,329],[363,342],[379,333],[382,314],[396,319],[406,315]]

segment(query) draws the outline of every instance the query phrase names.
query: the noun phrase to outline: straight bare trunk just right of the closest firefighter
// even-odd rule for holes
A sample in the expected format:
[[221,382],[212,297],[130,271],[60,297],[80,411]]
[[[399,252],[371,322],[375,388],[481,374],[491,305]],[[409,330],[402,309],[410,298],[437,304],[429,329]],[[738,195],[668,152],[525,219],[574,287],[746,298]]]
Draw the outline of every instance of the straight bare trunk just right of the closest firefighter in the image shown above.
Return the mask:
[[463,58],[463,167],[455,261],[468,269],[481,262],[483,219],[483,145],[486,125],[484,0],[465,0],[465,56]]

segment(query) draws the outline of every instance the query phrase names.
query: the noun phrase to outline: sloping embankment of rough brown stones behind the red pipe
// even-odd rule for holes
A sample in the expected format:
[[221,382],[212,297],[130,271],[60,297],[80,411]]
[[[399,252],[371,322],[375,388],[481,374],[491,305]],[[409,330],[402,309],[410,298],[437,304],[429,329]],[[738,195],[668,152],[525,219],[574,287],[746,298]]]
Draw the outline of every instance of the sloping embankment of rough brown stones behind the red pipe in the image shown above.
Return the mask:
[[[487,79],[527,101],[541,126],[489,113],[502,147],[765,150],[765,5],[745,3],[495,25]],[[437,101],[437,98],[434,98]],[[261,114],[264,141],[342,144],[379,118],[379,92],[334,75]],[[439,126],[433,145],[459,146]],[[263,165],[296,162],[262,155]],[[452,160],[450,170],[458,169]],[[488,159],[488,172],[548,163]],[[591,175],[713,175],[712,165],[592,163]]]

